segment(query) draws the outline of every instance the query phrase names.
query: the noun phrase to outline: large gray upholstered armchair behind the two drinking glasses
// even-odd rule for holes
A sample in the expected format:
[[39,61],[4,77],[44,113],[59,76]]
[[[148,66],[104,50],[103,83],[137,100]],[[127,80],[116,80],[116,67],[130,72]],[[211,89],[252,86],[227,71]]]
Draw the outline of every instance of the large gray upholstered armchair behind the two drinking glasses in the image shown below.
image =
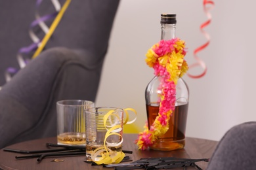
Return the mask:
[[[0,1],[0,148],[56,136],[56,101],[95,101],[119,4],[72,1],[45,50],[5,84],[7,67],[18,68],[18,49],[32,43],[28,27],[35,18],[35,2]],[[53,10],[51,1],[39,7],[40,14]]]

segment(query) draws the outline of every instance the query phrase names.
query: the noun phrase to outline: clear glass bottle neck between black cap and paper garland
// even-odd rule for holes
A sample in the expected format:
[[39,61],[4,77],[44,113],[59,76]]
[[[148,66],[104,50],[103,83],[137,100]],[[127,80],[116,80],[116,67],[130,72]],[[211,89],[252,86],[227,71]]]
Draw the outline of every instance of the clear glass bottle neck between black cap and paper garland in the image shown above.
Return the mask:
[[161,24],[161,40],[175,38],[176,24]]

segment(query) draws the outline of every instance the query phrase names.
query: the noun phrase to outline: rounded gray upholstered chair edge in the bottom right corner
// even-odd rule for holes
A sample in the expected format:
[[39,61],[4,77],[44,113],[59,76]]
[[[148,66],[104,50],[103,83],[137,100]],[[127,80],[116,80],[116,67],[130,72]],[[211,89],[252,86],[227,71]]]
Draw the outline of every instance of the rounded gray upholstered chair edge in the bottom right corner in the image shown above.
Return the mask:
[[256,169],[256,122],[232,127],[221,139],[207,170]]

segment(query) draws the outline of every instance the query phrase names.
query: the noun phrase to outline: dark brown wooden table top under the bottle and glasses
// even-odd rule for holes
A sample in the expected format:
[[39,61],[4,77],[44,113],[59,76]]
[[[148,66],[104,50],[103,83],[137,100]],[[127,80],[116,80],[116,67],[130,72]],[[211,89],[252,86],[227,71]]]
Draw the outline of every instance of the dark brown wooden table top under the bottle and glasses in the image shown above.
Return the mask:
[[[196,139],[186,137],[186,146],[181,150],[174,151],[156,151],[156,150],[138,150],[134,143],[137,139],[137,134],[125,134],[123,136],[123,150],[132,150],[133,154],[127,154],[131,160],[139,160],[140,158],[158,158],[158,157],[176,157],[176,158],[211,158],[213,150],[217,145],[217,141],[206,139]],[[56,143],[56,137],[37,139],[26,141],[23,143],[12,144],[7,148],[19,150],[45,150],[45,143]],[[86,163],[85,156],[69,156],[58,158],[44,158],[40,163],[37,158],[16,160],[15,156],[21,154],[6,152],[0,150],[0,169],[114,169],[110,167],[102,167],[102,165],[92,166],[91,163]],[[64,160],[63,162],[53,162],[54,159]],[[202,169],[207,167],[207,162],[196,163]],[[190,169],[190,168],[189,168]],[[195,169],[191,167],[191,169]]]

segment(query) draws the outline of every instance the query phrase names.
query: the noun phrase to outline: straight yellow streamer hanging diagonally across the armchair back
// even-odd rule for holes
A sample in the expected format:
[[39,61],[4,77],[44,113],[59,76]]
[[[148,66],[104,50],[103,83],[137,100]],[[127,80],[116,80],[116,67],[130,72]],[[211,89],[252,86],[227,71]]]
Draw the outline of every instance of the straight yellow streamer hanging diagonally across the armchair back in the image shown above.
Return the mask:
[[47,32],[47,34],[45,34],[45,37],[43,37],[43,40],[40,43],[39,47],[37,48],[37,50],[33,54],[32,59],[36,58],[40,54],[40,52],[43,50],[43,48],[45,47],[45,44],[47,43],[47,41],[49,41],[51,35],[53,35],[53,32],[56,29],[58,23],[60,22],[64,12],[66,11],[66,9],[68,9],[68,6],[70,5],[70,2],[71,2],[71,0],[66,0],[63,7],[60,9],[60,12],[58,12],[58,15],[54,19],[53,24],[49,28],[49,31]]

